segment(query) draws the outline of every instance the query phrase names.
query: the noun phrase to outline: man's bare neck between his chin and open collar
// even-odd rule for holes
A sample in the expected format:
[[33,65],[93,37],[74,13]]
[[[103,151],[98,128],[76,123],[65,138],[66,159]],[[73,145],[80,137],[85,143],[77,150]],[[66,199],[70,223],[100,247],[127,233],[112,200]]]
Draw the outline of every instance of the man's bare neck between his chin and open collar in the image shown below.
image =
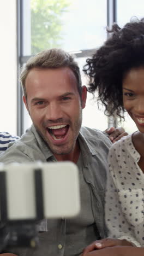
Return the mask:
[[71,161],[76,164],[77,160],[79,159],[80,155],[80,146],[79,142],[77,141],[75,144],[74,150],[72,150],[69,154],[65,155],[55,155],[57,161]]

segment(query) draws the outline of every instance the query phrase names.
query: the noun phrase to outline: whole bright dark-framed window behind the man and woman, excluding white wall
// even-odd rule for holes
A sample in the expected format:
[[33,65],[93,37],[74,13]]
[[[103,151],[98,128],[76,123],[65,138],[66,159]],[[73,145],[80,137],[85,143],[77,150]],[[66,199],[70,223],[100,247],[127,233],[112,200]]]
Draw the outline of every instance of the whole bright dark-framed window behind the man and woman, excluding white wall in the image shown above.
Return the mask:
[[[106,26],[114,21],[123,26],[131,16],[141,18],[143,10],[143,0],[21,0],[17,3],[21,13],[20,65],[45,48],[59,47],[75,54],[85,85],[87,78],[82,67],[106,39]],[[19,120],[18,134],[21,135],[32,123],[22,103]],[[104,130],[117,121],[107,118],[104,108],[99,110],[93,96],[88,95],[82,125]],[[128,132],[136,130],[127,115],[125,121],[118,124]]]

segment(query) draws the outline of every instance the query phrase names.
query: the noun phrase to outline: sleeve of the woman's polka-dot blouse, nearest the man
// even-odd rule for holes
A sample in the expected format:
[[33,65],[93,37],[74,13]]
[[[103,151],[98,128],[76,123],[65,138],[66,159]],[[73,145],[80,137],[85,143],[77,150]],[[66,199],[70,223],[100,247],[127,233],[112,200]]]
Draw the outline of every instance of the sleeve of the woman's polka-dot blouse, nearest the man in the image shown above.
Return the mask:
[[108,156],[109,172],[107,173],[107,185],[105,195],[105,222],[109,230],[109,237],[125,239],[137,247],[141,247],[136,240],[134,226],[124,216],[119,199],[119,188],[116,173],[118,172],[117,158],[113,147]]

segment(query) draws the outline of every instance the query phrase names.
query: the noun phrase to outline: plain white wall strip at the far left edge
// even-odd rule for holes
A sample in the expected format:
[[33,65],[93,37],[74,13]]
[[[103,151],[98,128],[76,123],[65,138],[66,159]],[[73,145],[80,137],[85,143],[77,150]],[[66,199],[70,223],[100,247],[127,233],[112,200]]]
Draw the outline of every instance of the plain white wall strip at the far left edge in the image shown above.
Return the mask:
[[16,135],[16,0],[0,1],[0,131]]

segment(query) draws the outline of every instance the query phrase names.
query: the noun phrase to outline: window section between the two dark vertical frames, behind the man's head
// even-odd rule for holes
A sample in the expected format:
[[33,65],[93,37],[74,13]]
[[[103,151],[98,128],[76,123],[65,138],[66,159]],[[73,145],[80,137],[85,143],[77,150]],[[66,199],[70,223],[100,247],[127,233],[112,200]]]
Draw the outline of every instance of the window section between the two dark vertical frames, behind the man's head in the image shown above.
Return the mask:
[[[25,42],[22,49],[22,65],[30,55],[45,48],[62,48],[75,54],[81,69],[82,84],[86,85],[87,79],[82,72],[83,65],[87,57],[103,44],[107,36],[106,7],[106,0],[91,0],[91,5],[83,0],[22,1],[22,40]],[[32,123],[23,105],[22,109],[21,133]],[[87,106],[83,109],[82,124],[100,130],[107,127],[107,117],[103,110],[98,109],[91,94],[88,94]]]

